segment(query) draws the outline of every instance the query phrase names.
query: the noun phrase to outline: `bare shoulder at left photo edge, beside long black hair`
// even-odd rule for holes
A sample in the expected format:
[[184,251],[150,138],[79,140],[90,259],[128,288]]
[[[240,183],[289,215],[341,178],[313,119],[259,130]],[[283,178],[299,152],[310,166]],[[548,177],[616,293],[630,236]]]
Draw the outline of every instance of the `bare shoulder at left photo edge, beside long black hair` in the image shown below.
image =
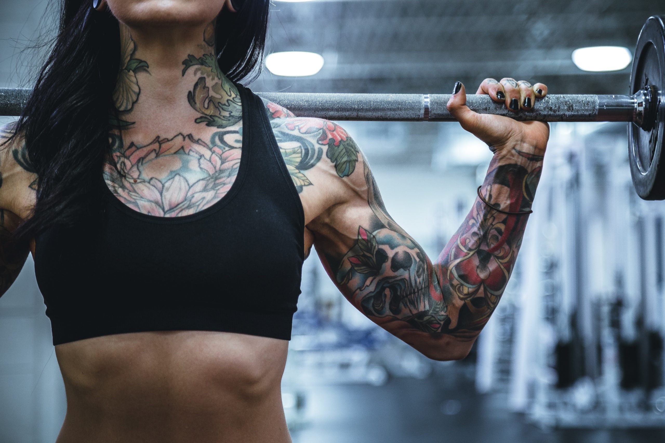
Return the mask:
[[0,126],[0,209],[23,215],[33,201],[37,174],[25,140],[15,134],[15,124]]

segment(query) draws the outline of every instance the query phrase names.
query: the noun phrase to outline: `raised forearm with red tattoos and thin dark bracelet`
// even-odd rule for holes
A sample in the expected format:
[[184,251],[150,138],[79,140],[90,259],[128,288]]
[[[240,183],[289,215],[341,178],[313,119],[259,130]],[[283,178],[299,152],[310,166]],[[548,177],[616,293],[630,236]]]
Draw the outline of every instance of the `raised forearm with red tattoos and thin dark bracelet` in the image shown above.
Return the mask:
[[[529,146],[504,149],[493,157],[481,195],[501,211],[528,211],[542,165],[542,155]],[[433,265],[446,303],[442,333],[462,341],[480,333],[508,284],[528,218],[495,211],[475,199]]]

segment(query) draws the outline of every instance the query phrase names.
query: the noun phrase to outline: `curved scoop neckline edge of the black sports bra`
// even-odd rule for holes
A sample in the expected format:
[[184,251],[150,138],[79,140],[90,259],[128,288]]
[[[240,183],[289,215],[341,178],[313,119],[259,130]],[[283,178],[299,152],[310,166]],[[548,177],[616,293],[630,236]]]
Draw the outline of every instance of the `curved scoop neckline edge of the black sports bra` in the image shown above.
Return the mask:
[[178,224],[178,223],[184,223],[184,222],[190,222],[194,220],[201,219],[203,217],[206,217],[207,215],[210,215],[212,213],[215,213],[219,211],[222,207],[227,205],[233,197],[238,193],[240,187],[243,184],[243,181],[245,179],[245,171],[247,170],[247,163],[249,163],[249,128],[248,128],[248,123],[249,123],[249,112],[248,112],[248,98],[247,95],[245,94],[244,88],[236,84],[236,88],[238,89],[238,92],[240,94],[241,98],[241,106],[242,106],[242,129],[243,129],[243,135],[242,135],[242,146],[241,146],[241,153],[240,153],[240,165],[238,166],[238,173],[235,175],[235,180],[233,180],[233,184],[231,185],[231,188],[229,191],[221,197],[218,201],[210,205],[209,207],[205,209],[201,209],[201,211],[198,211],[194,214],[188,214],[188,215],[181,215],[178,217],[161,217],[159,215],[150,215],[150,214],[144,214],[139,211],[136,211],[136,209],[132,209],[122,203],[118,197],[113,193],[113,191],[110,190],[108,185],[106,185],[106,181],[104,180],[104,173],[102,171],[102,174],[100,175],[100,182],[102,186],[104,187],[104,192],[106,193],[106,197],[108,200],[111,201],[111,203],[120,209],[123,213],[129,215],[130,217],[134,217],[135,219],[143,220],[143,221],[148,221],[148,222],[155,222],[155,223],[161,223],[161,224]]

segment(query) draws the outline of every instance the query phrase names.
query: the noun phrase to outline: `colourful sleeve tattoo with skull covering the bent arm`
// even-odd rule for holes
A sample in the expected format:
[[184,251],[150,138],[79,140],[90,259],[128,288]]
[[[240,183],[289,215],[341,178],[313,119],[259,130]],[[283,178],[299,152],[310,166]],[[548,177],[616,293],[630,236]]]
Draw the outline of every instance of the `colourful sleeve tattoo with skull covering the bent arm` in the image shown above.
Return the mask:
[[[362,155],[361,155],[362,156]],[[370,211],[342,214],[356,236],[346,252],[340,241],[317,242],[327,271],[344,296],[398,337],[400,331],[448,335],[473,341],[495,310],[515,265],[528,215],[506,215],[475,199],[462,226],[432,262],[422,247],[388,215],[376,182],[362,159]],[[495,155],[481,187],[503,211],[531,208],[543,157],[515,147]],[[333,228],[332,231],[337,231]]]

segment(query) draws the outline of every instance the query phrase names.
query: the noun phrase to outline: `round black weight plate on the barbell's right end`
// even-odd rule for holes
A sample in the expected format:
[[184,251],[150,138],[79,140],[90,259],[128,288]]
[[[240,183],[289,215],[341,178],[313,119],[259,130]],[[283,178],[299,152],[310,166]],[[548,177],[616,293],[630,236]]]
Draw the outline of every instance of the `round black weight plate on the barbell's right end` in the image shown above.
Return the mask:
[[630,94],[648,86],[655,89],[656,123],[645,131],[636,124],[628,124],[628,157],[635,191],[644,200],[665,199],[665,159],[662,158],[665,106],[660,105],[665,86],[665,16],[650,17],[637,39]]

